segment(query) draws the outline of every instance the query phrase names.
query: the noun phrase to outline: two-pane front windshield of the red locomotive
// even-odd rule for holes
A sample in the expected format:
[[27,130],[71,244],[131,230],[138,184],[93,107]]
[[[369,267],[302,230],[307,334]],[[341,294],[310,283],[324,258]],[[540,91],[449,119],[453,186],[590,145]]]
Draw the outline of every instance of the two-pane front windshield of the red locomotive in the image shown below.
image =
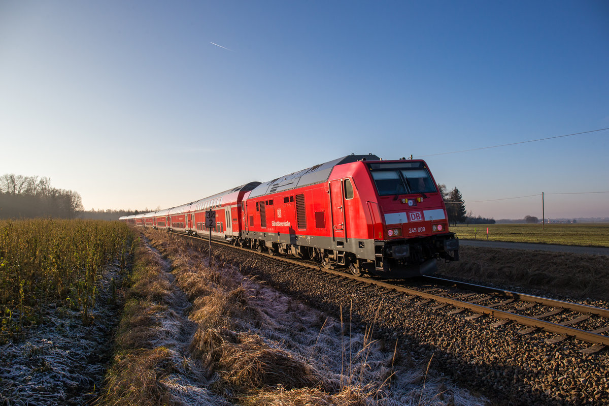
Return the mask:
[[437,191],[422,162],[373,163],[368,166],[380,196]]

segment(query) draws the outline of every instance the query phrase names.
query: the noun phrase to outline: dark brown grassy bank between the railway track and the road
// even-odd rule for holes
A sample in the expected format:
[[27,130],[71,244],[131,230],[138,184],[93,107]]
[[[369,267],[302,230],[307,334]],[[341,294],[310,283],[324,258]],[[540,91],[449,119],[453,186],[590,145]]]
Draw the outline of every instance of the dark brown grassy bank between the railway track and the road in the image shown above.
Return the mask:
[[438,276],[557,294],[594,305],[609,301],[609,257],[461,246],[459,261],[440,263]]

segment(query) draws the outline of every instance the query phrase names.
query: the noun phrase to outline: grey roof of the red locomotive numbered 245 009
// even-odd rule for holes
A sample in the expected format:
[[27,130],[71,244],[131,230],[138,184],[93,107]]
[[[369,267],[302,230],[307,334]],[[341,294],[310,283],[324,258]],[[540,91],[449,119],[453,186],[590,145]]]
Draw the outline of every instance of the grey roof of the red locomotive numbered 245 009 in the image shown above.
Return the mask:
[[378,161],[381,158],[373,154],[368,155],[347,155],[346,157],[337,158],[329,162],[320,163],[319,165],[311,166],[311,168],[302,169],[301,171],[287,174],[269,182],[261,183],[250,193],[250,198],[256,196],[264,196],[265,194],[275,193],[283,190],[313,185],[314,183],[325,182],[328,180],[332,169],[336,165],[343,163],[357,162],[361,160]]

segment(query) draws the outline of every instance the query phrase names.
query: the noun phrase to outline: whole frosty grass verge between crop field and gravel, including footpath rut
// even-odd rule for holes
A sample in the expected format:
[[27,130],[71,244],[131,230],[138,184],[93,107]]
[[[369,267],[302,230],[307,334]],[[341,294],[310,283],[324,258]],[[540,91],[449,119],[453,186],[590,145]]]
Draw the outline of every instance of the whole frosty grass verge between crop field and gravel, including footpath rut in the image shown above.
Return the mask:
[[130,294],[102,404],[484,404],[352,327],[350,308],[333,318],[248,276],[254,264],[210,266],[199,246],[148,235],[168,262],[151,252]]

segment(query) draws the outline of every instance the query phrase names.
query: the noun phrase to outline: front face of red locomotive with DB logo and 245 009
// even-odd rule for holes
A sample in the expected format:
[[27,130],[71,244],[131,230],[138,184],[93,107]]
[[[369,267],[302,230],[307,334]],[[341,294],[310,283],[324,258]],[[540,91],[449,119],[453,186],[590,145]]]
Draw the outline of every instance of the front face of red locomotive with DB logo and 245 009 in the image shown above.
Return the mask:
[[[432,274],[437,259],[459,259],[442,195],[423,160],[367,163],[376,188],[375,269],[400,276]],[[373,216],[373,217],[377,217]]]

